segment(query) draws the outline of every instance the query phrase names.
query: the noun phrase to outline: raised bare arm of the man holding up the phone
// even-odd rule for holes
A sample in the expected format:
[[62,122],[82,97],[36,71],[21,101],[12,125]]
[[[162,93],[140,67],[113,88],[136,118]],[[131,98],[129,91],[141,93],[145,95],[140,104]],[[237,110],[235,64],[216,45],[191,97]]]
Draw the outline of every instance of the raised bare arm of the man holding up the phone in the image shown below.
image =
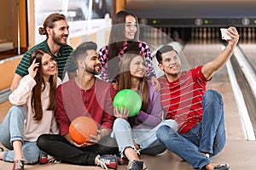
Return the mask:
[[235,27],[230,27],[228,31],[228,35],[232,37],[232,39],[227,40],[228,45],[220,54],[218,54],[218,56],[215,59],[208,62],[201,69],[202,74],[207,78],[207,80],[209,80],[215,72],[217,72],[226,64],[226,62],[232,56],[234,49],[236,48],[236,43],[239,40],[238,32],[236,31]]

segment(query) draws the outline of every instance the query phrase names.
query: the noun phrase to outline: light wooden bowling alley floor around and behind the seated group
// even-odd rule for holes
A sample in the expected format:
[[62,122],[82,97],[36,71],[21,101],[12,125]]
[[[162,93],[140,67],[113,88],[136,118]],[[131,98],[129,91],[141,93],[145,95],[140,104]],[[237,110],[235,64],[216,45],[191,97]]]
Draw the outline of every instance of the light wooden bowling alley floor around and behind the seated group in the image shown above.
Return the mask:
[[[200,51],[200,56],[198,52]],[[205,63],[214,58],[220,51],[218,45],[188,45],[184,48],[184,55],[187,56],[189,65],[195,66],[200,62]],[[210,52],[210,54],[209,54]],[[198,59],[189,58],[189,56],[198,56]],[[247,141],[241,125],[241,118],[238,113],[234,94],[230,85],[230,79],[227,75],[226,68],[218,72],[208,83],[207,88],[218,90],[224,99],[224,117],[226,126],[227,143],[224,150],[212,158],[216,163],[229,163],[231,170],[253,170],[256,169],[254,163],[256,159],[256,142]],[[0,122],[9,110],[9,102],[0,105]],[[1,135],[1,134],[0,134]],[[187,162],[173,153],[166,151],[159,156],[141,156],[145,161],[149,170],[193,170]],[[119,166],[119,170],[125,170],[126,166]],[[0,170],[8,170],[12,168],[12,163],[0,161]],[[102,169],[101,167],[76,166],[70,164],[46,164],[46,165],[26,165],[26,170],[79,170],[79,169]]]

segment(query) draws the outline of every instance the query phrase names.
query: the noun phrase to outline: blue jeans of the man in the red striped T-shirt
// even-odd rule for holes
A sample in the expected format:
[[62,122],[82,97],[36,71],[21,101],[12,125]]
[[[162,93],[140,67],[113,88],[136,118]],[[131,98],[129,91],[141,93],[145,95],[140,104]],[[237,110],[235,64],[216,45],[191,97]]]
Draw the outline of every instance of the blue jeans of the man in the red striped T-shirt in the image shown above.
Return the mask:
[[207,90],[203,96],[202,122],[179,134],[177,129],[162,126],[156,133],[157,138],[177,156],[181,156],[196,169],[201,169],[211,163],[211,159],[201,152],[207,152],[210,157],[216,156],[224,149],[226,142],[224,129],[224,107],[220,94]]

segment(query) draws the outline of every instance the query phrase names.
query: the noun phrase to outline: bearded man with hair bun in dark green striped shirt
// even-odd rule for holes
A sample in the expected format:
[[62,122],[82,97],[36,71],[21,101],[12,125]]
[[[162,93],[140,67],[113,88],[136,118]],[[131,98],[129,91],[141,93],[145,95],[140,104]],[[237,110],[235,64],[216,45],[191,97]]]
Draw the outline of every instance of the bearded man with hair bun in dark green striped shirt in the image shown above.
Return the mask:
[[40,35],[46,35],[46,40],[38,43],[23,55],[16,68],[15,77],[10,87],[11,91],[14,91],[18,87],[20,79],[28,74],[29,56],[36,48],[44,48],[52,54],[57,62],[58,77],[61,80],[64,78],[65,71],[68,72],[69,78],[76,76],[75,64],[72,59],[68,59],[69,54],[73,51],[73,48],[67,45],[68,27],[65,15],[49,14],[44,20],[44,27],[40,27],[38,30]]

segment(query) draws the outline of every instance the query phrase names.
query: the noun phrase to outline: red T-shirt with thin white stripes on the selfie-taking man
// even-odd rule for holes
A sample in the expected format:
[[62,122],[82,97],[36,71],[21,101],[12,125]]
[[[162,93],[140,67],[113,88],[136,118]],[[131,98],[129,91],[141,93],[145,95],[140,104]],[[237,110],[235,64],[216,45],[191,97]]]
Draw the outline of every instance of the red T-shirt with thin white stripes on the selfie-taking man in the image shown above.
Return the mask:
[[179,125],[179,133],[187,133],[202,120],[202,97],[206,91],[207,79],[201,73],[201,66],[183,71],[174,82],[166,76],[159,78],[161,105],[166,119],[174,119]]

